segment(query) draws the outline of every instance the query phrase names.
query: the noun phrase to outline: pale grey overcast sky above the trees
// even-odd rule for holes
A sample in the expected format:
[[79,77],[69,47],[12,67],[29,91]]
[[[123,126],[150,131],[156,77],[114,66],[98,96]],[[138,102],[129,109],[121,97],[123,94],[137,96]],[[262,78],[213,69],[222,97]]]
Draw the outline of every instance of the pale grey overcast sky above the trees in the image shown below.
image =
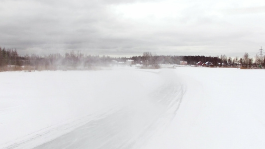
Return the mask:
[[254,57],[263,0],[0,0],[0,46],[19,54]]

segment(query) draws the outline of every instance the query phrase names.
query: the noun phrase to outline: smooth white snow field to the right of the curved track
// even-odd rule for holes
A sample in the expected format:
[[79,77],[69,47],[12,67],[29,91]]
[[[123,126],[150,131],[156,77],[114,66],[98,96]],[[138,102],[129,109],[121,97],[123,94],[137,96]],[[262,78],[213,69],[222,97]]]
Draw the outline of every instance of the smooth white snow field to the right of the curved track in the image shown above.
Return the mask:
[[170,127],[144,149],[263,149],[264,70],[177,68],[186,93]]

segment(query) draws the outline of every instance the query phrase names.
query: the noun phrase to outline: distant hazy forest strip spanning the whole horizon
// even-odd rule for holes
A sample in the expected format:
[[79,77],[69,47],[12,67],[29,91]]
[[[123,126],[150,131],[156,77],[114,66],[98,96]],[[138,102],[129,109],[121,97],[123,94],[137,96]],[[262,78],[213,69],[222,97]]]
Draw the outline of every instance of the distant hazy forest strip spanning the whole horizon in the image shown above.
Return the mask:
[[[241,67],[241,68],[264,68],[265,58],[256,55],[255,59],[250,58],[245,53],[242,58],[231,58],[221,55],[221,57],[205,56],[165,56],[153,55],[151,52],[144,52],[142,56],[133,56],[130,58],[109,56],[91,56],[79,52],[70,52],[61,55],[49,54],[48,56],[20,56],[16,50],[0,47],[0,71],[19,71],[19,70],[77,70],[77,69],[95,69],[99,66],[110,66],[125,64],[127,60],[133,60],[134,64],[144,66],[160,66],[161,64],[180,65],[180,61],[187,62],[187,65],[197,65],[196,63],[210,62],[209,67]],[[159,68],[159,67],[154,67]]]

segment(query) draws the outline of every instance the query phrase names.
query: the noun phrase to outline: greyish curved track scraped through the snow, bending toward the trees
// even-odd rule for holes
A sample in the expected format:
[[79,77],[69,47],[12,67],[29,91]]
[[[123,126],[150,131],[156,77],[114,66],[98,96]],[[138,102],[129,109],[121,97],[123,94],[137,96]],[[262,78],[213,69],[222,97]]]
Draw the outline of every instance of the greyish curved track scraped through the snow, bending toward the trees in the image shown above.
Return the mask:
[[162,70],[156,74],[164,83],[150,95],[35,149],[137,149],[144,146],[158,129],[165,128],[175,117],[185,93],[185,86],[174,71]]

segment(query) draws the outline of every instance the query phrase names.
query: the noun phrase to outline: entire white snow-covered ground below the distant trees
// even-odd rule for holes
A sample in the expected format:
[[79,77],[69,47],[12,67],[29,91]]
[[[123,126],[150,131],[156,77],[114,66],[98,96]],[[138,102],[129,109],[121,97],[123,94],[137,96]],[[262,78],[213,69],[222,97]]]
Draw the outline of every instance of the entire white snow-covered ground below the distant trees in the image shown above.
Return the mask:
[[263,149],[264,70],[0,73],[1,149]]

